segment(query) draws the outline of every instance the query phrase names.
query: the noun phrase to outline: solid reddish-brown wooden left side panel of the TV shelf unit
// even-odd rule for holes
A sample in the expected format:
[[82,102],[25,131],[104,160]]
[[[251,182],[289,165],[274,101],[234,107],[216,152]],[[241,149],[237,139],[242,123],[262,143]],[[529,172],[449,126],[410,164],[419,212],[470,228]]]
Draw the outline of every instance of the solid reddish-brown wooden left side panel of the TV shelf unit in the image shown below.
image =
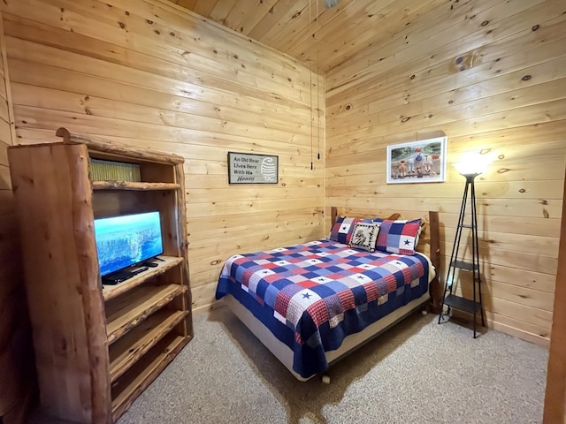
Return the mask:
[[34,258],[24,269],[38,378],[40,387],[50,388],[41,390],[42,405],[66,420],[110,423],[87,148],[57,144],[36,152],[13,147],[8,154],[22,248]]

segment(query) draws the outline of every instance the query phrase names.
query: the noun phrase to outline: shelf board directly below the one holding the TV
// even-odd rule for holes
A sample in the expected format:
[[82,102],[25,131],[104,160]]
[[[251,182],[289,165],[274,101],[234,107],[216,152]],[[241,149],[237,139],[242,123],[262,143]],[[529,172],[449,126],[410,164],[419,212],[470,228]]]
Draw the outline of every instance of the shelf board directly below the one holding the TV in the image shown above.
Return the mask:
[[180,284],[149,285],[126,292],[123,296],[107,303],[108,345],[184,292],[187,292],[187,287]]

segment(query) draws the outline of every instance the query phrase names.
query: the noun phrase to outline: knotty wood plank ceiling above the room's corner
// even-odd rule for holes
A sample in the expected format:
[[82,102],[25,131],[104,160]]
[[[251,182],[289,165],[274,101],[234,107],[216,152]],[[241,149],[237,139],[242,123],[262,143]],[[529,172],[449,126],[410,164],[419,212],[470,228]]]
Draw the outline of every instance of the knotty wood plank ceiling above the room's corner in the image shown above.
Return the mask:
[[328,72],[447,0],[170,0]]

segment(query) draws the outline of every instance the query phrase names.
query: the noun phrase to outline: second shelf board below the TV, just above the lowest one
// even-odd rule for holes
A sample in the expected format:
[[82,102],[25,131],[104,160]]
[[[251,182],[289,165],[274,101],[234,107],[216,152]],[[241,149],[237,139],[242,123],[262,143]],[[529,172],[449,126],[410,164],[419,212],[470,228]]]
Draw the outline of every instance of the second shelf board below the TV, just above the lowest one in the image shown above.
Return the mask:
[[110,347],[110,378],[115,382],[124,375],[137,360],[157,345],[186,316],[187,311],[163,309],[149,316],[147,320],[138,325],[111,345]]

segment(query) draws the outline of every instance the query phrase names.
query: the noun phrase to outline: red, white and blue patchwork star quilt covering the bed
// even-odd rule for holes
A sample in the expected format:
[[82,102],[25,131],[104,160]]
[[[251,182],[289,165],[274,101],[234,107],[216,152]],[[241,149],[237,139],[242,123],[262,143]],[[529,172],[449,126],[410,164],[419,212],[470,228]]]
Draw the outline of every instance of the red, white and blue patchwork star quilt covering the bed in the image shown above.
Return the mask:
[[422,254],[367,252],[322,239],[229,258],[216,299],[231,294],[294,352],[304,378],[325,352],[428,290]]

